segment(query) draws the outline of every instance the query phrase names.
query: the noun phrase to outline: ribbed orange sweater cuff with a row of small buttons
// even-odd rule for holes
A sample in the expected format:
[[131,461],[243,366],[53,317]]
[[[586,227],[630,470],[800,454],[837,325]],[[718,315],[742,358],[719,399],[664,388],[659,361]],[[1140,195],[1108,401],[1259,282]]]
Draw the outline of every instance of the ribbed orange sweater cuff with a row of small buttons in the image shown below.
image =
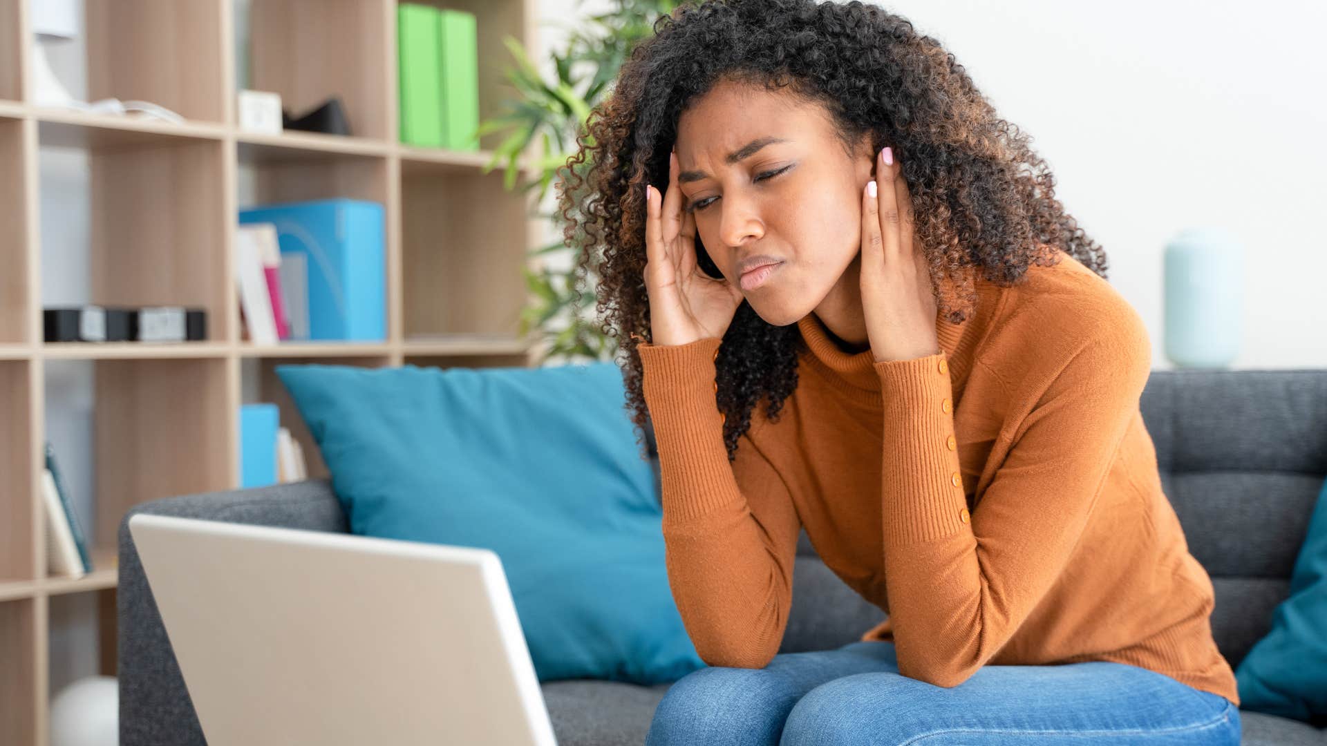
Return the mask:
[[894,547],[971,531],[945,352],[874,364],[884,417],[881,508]]

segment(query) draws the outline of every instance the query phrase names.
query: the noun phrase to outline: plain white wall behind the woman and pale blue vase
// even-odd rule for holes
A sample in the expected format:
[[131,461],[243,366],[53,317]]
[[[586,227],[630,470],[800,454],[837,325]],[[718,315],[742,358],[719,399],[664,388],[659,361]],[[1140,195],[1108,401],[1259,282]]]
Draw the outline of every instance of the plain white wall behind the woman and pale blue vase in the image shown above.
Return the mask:
[[[1164,356],[1162,250],[1218,226],[1246,247],[1231,368],[1327,368],[1327,4],[874,3],[940,40],[1028,133]],[[575,0],[545,0],[545,17]],[[608,7],[605,1],[587,8]]]

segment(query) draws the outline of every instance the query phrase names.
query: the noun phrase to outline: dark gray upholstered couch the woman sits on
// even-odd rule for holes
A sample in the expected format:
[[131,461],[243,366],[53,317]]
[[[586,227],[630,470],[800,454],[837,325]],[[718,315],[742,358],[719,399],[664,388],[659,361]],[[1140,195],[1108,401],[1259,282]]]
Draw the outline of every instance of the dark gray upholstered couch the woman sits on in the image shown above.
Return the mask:
[[[1238,665],[1289,592],[1327,475],[1327,370],[1156,370],[1141,406],[1166,495],[1216,585],[1217,642]],[[657,458],[654,463],[657,479]],[[346,531],[326,481],[161,499],[129,515],[137,512]],[[121,743],[203,743],[127,519],[119,527]],[[880,609],[829,572],[803,534],[782,650],[843,645],[881,619]],[[608,681],[543,685],[561,746],[642,743],[666,689]],[[1243,713],[1243,733],[1251,745],[1327,746],[1327,730],[1251,711]]]

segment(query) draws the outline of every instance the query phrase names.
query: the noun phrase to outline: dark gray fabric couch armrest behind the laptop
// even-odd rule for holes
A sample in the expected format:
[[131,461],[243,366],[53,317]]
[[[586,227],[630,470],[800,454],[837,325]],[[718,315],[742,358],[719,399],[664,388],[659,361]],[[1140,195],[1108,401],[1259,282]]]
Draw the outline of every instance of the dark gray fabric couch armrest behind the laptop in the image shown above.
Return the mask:
[[119,587],[115,593],[119,743],[203,746],[207,742],[198,714],[129,535],[129,519],[139,512],[342,534],[349,530],[345,512],[329,481],[311,479],[165,498],[125,514],[119,523]]

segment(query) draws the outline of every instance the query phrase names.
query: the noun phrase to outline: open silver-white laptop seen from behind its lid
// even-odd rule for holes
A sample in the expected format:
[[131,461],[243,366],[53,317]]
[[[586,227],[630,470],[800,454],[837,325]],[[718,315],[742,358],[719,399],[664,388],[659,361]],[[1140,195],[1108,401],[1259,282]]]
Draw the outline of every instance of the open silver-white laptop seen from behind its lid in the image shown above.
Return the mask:
[[138,514],[211,746],[555,746],[491,550]]

